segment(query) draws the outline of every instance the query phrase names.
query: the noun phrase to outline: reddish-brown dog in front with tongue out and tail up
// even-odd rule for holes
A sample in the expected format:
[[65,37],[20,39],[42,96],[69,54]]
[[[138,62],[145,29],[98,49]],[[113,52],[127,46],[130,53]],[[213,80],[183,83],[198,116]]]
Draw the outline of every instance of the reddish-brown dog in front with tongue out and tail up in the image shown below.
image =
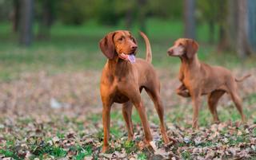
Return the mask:
[[104,142],[102,151],[108,148],[110,135],[110,108],[113,103],[122,103],[122,115],[126,121],[128,139],[133,139],[134,131],[131,120],[133,104],[142,121],[146,142],[150,144],[152,135],[146,118],[145,107],[140,92],[144,88],[158,112],[164,142],[169,142],[163,121],[163,107],[160,99],[160,84],[151,63],[150,41],[141,33],[146,42],[146,60],[136,59],[137,42],[129,31],[118,30],[108,33],[99,42],[102,53],[108,58],[102,71],[102,121]]

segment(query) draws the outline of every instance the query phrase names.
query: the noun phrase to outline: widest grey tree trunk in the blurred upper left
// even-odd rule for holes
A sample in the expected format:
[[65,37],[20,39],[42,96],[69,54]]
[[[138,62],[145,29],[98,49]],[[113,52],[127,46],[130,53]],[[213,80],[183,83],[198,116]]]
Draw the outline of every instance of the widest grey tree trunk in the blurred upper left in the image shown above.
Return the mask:
[[20,0],[21,2],[21,30],[20,43],[22,45],[30,45],[33,36],[33,9],[34,0]]

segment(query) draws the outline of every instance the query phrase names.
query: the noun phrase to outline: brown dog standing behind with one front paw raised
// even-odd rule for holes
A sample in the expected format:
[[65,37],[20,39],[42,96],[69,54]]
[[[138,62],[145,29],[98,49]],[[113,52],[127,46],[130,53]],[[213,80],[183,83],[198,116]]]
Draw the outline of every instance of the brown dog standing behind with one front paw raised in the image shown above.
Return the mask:
[[192,98],[193,102],[193,127],[198,127],[198,110],[201,104],[201,96],[208,95],[208,105],[214,117],[214,122],[218,122],[217,103],[224,93],[228,93],[234,101],[241,117],[245,122],[242,112],[242,101],[238,96],[237,80],[232,73],[219,66],[210,66],[199,62],[198,43],[191,39],[181,38],[174,42],[174,46],[168,49],[168,54],[173,57],[180,57],[182,65],[179,71],[179,80],[182,85],[176,90],[177,94],[183,97]]

